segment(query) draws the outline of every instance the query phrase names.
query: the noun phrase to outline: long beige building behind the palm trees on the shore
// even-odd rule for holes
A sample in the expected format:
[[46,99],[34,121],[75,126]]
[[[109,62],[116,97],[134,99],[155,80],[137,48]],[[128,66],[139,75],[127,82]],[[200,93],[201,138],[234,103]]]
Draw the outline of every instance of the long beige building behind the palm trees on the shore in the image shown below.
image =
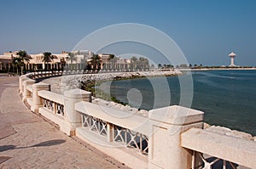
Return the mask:
[[[17,51],[3,53],[0,55],[0,70],[11,70],[12,60],[16,57]],[[53,59],[50,62],[44,62],[44,54],[29,54],[29,61],[25,61],[23,69],[25,70],[87,70],[93,68],[91,65],[91,58],[94,55],[89,50],[79,50],[66,52],[62,51],[61,54],[52,54]],[[112,59],[110,56],[112,55]],[[100,58],[101,70],[133,70],[133,69],[147,69],[149,67],[148,62],[146,65],[135,67],[142,63],[139,59],[137,63],[134,63],[131,59],[124,59],[121,57],[115,57],[113,54],[98,54]],[[141,59],[141,58],[140,58]]]

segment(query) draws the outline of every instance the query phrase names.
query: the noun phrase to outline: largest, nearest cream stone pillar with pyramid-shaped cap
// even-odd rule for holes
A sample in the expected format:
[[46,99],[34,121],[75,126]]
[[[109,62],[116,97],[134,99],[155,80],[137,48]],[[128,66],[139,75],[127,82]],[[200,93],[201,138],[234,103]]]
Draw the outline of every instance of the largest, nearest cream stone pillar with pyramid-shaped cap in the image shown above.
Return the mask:
[[204,113],[178,105],[149,111],[148,168],[191,168],[192,151],[181,147],[181,133],[203,127]]

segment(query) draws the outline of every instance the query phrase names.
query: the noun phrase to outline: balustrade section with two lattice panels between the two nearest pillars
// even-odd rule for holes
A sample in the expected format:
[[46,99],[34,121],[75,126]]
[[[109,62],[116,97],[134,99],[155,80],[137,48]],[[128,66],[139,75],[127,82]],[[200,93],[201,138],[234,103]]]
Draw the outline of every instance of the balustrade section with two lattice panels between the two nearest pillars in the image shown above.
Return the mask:
[[127,166],[148,168],[147,117],[85,101],[74,108],[83,117],[82,127],[76,128],[77,137]]

